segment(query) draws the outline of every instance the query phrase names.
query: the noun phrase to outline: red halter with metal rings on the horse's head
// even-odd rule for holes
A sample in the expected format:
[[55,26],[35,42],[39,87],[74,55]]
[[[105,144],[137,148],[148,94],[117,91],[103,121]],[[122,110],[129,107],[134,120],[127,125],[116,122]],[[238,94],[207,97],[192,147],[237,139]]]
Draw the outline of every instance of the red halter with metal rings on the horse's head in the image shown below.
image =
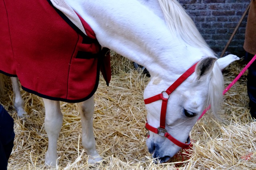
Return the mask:
[[[196,63],[197,64],[197,63]],[[148,124],[148,121],[146,122],[146,129],[149,131],[152,131],[162,137],[167,137],[172,143],[177,145],[178,147],[181,147],[182,149],[186,149],[191,146],[190,143],[190,137],[187,139],[187,143],[182,143],[172,137],[166,129],[165,129],[165,118],[166,118],[166,109],[167,109],[167,102],[170,98],[170,94],[182,83],[186,78],[188,78],[196,68],[196,64],[194,64],[192,67],[190,67],[186,72],[184,72],[166,91],[163,91],[160,94],[157,94],[156,96],[153,96],[151,98],[147,98],[144,100],[145,104],[150,104],[152,102],[156,102],[157,100],[162,100],[162,107],[161,107],[161,114],[160,114],[160,126],[158,128],[152,127]],[[168,98],[165,98],[163,94],[168,94]]]

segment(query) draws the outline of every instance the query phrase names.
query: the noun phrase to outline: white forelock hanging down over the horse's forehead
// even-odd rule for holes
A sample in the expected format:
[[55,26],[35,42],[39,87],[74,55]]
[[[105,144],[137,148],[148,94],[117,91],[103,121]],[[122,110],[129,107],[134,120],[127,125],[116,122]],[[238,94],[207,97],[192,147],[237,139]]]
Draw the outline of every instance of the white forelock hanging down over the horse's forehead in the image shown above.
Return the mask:
[[220,105],[223,101],[222,92],[224,89],[224,80],[220,66],[217,62],[214,63],[208,89],[207,106],[211,106],[212,113],[215,117],[218,117],[217,112],[220,109]]

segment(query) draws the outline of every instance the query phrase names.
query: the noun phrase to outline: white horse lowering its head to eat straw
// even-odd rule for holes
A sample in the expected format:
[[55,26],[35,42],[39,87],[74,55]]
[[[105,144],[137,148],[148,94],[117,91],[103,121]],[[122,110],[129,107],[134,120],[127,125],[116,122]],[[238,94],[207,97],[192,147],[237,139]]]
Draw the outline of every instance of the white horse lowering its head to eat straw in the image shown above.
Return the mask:
[[[176,0],[65,1],[90,25],[102,47],[145,66],[150,72],[151,80],[144,91],[150,127],[146,145],[153,158],[168,161],[190,143],[187,140],[190,130],[208,104],[213,113],[217,113],[222,101],[221,70],[239,58],[228,55],[218,59]],[[175,90],[170,90],[169,86],[195,63],[191,75],[182,78]],[[18,79],[12,78],[12,83],[16,95],[14,105],[22,116],[26,112],[22,108],[24,102],[18,90]],[[170,94],[170,91],[173,92]],[[155,102],[147,100],[156,95],[160,97]],[[49,140],[45,162],[55,165],[62,126],[60,102],[43,100]],[[93,96],[79,103],[79,111],[82,145],[89,155],[88,162],[101,161],[93,135]]]

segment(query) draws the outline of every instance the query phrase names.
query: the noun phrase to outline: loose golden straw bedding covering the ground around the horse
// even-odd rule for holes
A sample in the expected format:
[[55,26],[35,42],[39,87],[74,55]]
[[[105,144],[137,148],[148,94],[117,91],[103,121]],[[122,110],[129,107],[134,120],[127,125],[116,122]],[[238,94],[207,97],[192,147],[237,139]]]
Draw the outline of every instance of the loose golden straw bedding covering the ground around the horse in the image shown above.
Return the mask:
[[[227,86],[245,62],[236,61],[224,70]],[[227,92],[219,112],[221,120],[208,111],[191,131],[194,146],[165,164],[154,164],[146,148],[146,110],[143,90],[149,78],[133,69],[131,61],[112,53],[112,80],[100,80],[95,94],[94,134],[104,161],[86,162],[81,145],[81,121],[77,104],[61,102],[64,115],[58,140],[59,170],[247,170],[256,169],[256,123],[248,111],[246,75]],[[246,73],[247,74],[247,73]],[[30,117],[19,119],[12,106],[12,87],[6,78],[6,93],[0,103],[14,118],[16,134],[9,170],[51,169],[44,166],[48,146],[44,130],[44,104],[22,91]]]

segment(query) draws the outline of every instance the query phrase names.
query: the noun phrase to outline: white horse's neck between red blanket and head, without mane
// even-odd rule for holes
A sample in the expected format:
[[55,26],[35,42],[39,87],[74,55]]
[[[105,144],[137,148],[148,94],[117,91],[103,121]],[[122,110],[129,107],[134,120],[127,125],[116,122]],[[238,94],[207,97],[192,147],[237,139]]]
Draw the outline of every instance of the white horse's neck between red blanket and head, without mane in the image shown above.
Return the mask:
[[[200,50],[171,33],[165,20],[142,0],[66,0],[92,27],[102,47],[146,66],[152,76],[180,74],[198,61]],[[152,1],[150,1],[152,2]],[[154,8],[154,10],[152,10]],[[188,56],[196,51],[197,57]]]

